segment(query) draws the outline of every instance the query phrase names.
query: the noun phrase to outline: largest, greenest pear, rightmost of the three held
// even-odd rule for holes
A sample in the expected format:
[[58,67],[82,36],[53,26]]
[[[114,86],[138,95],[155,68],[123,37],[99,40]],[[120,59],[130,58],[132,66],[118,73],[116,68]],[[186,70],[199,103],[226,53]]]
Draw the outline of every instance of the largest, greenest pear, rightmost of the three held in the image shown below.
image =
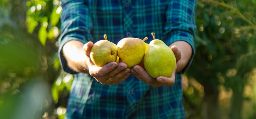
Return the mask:
[[150,41],[144,55],[144,67],[155,79],[159,76],[171,77],[176,65],[175,55],[162,40],[155,38],[155,33],[152,36],[154,40]]

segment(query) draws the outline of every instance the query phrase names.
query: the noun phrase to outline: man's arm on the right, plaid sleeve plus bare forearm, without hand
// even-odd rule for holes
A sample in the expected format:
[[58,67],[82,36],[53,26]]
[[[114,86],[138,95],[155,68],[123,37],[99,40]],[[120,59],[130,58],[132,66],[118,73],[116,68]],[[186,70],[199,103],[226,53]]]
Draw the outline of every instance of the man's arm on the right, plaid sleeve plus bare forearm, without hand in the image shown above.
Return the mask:
[[176,72],[184,73],[194,55],[196,3],[197,0],[170,1],[166,11],[165,44],[177,46],[181,53]]

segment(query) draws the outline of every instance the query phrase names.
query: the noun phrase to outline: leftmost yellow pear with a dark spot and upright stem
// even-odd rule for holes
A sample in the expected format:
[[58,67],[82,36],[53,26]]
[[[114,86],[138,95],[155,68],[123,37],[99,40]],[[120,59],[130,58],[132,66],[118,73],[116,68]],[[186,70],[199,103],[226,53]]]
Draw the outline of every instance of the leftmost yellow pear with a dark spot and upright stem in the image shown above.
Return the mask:
[[107,40],[106,34],[104,34],[104,38],[104,40],[97,41],[90,52],[91,60],[98,67],[115,62],[117,58],[117,46]]

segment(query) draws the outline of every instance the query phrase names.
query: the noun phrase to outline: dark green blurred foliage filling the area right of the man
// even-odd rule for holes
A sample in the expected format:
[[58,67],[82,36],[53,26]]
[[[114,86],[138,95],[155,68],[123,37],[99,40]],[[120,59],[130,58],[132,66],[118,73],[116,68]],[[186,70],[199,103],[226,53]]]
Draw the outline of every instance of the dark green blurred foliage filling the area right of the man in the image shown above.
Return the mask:
[[[255,0],[198,1],[196,53],[187,76],[204,87],[204,94],[202,97],[194,96],[196,91],[190,93],[193,100],[202,101],[193,103],[190,99],[187,102],[192,103],[187,109],[194,109],[189,111],[189,117],[247,119],[253,116],[242,115],[244,101],[255,100],[244,96],[244,86],[256,66],[256,9],[250,4],[255,4]],[[220,105],[223,90],[230,90],[232,94],[227,108]],[[185,99],[191,96],[187,91]]]

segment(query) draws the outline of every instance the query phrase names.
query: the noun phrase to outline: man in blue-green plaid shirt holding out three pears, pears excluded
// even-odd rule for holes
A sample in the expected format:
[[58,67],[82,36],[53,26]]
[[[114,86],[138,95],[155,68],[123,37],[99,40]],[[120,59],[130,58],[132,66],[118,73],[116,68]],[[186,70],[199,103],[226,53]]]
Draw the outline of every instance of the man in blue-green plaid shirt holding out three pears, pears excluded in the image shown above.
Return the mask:
[[[185,118],[181,74],[194,54],[196,0],[62,0],[59,56],[74,74],[66,118]],[[96,41],[108,35],[152,40],[151,32],[175,54],[172,77],[153,79],[139,65],[90,60]],[[163,69],[164,70],[164,69]]]

